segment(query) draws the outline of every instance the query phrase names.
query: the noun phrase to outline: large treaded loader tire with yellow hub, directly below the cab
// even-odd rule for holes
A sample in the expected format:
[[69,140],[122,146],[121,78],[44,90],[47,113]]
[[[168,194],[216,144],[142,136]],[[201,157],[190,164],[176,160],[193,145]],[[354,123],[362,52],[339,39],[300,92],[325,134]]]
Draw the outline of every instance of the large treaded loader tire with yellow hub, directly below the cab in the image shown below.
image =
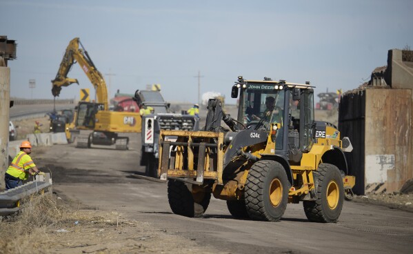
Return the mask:
[[251,219],[276,222],[288,202],[288,182],[279,162],[262,160],[252,165],[245,184],[245,204]]

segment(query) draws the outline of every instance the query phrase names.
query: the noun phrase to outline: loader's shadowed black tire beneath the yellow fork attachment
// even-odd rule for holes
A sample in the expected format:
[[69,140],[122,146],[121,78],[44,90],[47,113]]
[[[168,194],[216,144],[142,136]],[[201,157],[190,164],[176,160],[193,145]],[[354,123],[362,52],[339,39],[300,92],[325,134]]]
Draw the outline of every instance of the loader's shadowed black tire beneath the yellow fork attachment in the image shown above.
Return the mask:
[[168,181],[168,202],[172,212],[185,217],[199,217],[210,204],[211,193],[192,194],[188,187],[175,180]]

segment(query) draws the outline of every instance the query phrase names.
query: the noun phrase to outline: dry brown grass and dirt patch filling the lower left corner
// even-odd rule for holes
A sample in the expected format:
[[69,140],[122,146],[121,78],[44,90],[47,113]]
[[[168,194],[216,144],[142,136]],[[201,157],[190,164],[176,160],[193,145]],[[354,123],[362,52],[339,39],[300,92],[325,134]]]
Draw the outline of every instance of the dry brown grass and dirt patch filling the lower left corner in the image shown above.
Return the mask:
[[[76,223],[77,222],[77,223]],[[228,253],[199,246],[174,231],[91,210],[62,196],[34,196],[18,215],[0,221],[0,254]]]

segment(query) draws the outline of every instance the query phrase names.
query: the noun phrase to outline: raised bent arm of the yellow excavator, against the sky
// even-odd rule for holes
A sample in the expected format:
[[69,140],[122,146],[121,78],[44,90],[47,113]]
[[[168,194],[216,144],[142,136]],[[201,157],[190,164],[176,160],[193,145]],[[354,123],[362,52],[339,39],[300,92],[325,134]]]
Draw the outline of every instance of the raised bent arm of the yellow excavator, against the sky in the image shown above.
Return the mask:
[[[81,48],[79,48],[79,46],[81,46]],[[81,66],[93,84],[96,90],[97,102],[103,104],[105,110],[108,110],[108,88],[106,88],[105,79],[103,79],[101,72],[94,66],[92,59],[90,59],[88,52],[83,48],[78,37],[72,39],[68,48],[66,48],[56,78],[52,80],[52,95],[54,97],[59,96],[63,86],[70,86],[74,83],[79,84],[77,79],[68,77],[70,68],[72,68],[76,62]]]

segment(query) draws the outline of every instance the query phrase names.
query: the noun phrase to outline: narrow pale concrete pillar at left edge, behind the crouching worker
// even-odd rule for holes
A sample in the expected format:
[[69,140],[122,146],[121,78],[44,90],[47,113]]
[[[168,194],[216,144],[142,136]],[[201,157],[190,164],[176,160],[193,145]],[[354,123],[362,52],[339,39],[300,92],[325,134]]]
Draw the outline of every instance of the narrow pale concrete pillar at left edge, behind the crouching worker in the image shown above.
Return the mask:
[[0,190],[6,188],[8,168],[8,122],[10,113],[10,68],[0,67]]

